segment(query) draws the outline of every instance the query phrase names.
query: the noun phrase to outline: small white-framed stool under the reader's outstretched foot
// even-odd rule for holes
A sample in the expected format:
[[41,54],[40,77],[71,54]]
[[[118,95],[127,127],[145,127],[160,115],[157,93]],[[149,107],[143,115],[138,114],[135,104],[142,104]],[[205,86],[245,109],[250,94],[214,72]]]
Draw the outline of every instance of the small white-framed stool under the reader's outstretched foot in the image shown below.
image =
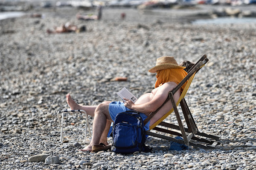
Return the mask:
[[[68,112],[71,112],[71,113],[84,113],[85,114],[85,116],[86,116],[85,132],[84,132],[84,141],[82,141],[82,142],[90,143],[90,139],[87,139],[87,128],[88,128],[88,131],[89,131],[90,138],[91,138],[92,135],[91,135],[89,121],[88,121],[88,115],[87,115],[86,111],[84,111],[84,110],[68,110],[68,109],[57,112],[58,123],[59,123],[59,125],[61,127],[61,143],[63,143],[63,141],[64,141],[64,136],[63,136],[64,113],[68,113]],[[59,118],[59,113],[62,113],[61,121],[60,121],[60,118]],[[73,141],[73,142],[76,142],[76,141]]]

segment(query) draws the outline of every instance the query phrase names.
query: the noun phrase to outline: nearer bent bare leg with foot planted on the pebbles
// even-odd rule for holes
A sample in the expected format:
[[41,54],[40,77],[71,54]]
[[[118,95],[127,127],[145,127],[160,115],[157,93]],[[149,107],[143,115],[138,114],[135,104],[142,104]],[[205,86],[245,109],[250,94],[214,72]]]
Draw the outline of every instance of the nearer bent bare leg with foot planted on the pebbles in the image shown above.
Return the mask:
[[92,151],[94,144],[99,144],[102,134],[105,130],[106,123],[108,120],[112,120],[108,112],[108,104],[99,104],[95,110],[95,116],[93,120],[93,138],[87,147],[84,147],[82,151]]

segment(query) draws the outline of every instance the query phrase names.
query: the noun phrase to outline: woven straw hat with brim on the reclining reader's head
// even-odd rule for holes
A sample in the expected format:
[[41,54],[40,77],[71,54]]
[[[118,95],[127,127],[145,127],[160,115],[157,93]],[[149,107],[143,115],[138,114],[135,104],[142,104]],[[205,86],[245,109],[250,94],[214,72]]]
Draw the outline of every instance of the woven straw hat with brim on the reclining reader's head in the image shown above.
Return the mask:
[[177,61],[174,59],[174,57],[160,57],[157,59],[156,66],[149,69],[148,71],[151,73],[156,73],[158,70],[163,70],[167,68],[180,68],[184,69],[186,67],[179,66]]

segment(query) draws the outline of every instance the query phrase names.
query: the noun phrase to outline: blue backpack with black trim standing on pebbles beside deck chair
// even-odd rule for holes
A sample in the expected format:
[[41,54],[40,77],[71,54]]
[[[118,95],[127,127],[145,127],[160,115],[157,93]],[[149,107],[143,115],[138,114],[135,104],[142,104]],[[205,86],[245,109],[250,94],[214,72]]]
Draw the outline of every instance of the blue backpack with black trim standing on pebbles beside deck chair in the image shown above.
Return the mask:
[[125,111],[116,115],[111,132],[113,144],[111,151],[129,154],[136,151],[151,151],[145,146],[143,119],[137,111]]

